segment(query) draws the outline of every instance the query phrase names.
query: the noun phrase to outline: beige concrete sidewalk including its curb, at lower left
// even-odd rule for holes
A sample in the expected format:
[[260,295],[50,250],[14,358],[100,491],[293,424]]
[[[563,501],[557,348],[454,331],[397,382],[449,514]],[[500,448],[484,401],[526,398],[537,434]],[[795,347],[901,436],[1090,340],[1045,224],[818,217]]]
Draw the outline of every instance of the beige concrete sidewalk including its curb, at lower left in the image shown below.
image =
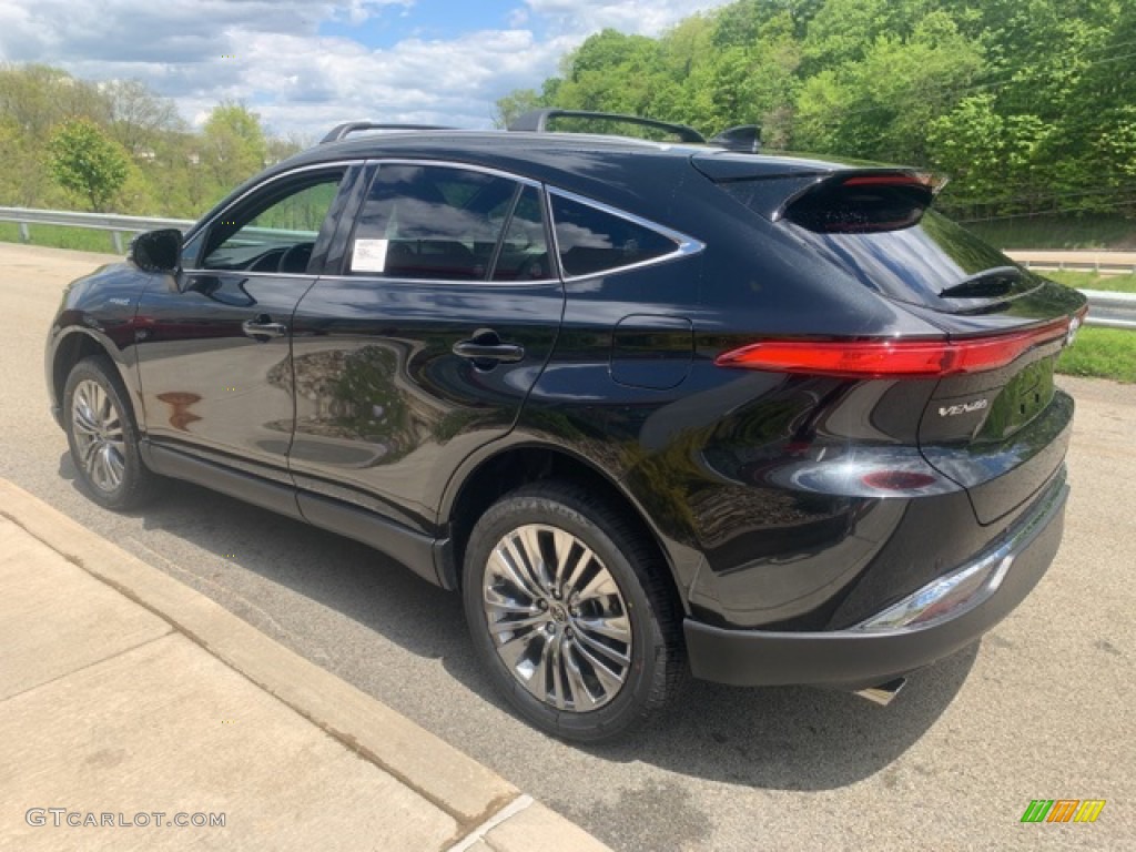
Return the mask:
[[607,849],[0,479],[0,846]]

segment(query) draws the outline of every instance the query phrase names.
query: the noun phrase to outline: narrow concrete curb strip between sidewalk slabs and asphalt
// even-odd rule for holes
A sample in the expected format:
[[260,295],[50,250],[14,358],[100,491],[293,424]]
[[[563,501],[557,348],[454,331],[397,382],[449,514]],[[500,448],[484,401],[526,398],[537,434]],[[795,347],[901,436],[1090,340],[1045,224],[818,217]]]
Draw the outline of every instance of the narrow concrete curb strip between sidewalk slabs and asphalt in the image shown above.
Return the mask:
[[449,813],[459,826],[452,852],[608,849],[404,716],[2,478],[0,516]]

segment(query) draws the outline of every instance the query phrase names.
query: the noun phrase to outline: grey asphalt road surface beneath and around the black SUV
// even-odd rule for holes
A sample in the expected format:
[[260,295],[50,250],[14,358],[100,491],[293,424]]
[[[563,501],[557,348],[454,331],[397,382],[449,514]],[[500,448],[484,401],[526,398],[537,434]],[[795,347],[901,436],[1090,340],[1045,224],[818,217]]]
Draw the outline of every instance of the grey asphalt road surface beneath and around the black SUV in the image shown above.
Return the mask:
[[[651,730],[578,749],[500,709],[467,646],[457,596],[384,557],[189,485],[128,516],[83,498],[48,414],[41,360],[60,287],[101,259],[0,244],[0,476],[615,849],[1136,844],[1136,387],[1062,381],[1079,409],[1056,562],[980,646],[912,677],[891,707],[816,690],[692,684]],[[1022,825],[1031,799],[1108,804],[1094,825]]]

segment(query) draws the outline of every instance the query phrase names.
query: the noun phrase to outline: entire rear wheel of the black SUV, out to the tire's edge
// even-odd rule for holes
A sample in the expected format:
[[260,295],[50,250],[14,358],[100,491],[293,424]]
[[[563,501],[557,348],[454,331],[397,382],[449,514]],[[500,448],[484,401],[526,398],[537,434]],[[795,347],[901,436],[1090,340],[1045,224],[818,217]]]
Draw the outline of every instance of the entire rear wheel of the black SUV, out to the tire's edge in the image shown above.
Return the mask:
[[[550,544],[558,533],[575,541],[568,546],[568,540],[561,535],[558,549]],[[590,567],[577,569],[579,573],[575,575],[580,582],[561,584],[561,590],[557,590],[556,580],[544,585],[538,590],[543,603],[537,594],[519,592],[520,586],[503,576],[508,574],[501,570],[506,562],[494,551],[507,536],[526,534],[534,537],[525,541],[538,544],[536,549],[546,554],[544,563],[549,563],[548,554],[551,553],[556,557],[552,563],[569,566],[562,569],[561,579],[563,575],[575,574],[570,566],[586,562]],[[517,546],[510,552],[511,562],[517,558],[526,563],[531,561],[520,556],[521,538],[512,543]],[[586,551],[577,550],[582,545],[591,550],[596,561],[586,558]],[[531,550],[533,548],[525,552]],[[579,556],[575,561],[570,557],[559,559],[562,550]],[[492,566],[491,557],[494,558]],[[609,577],[601,577],[602,570]],[[596,588],[608,590],[611,588],[607,582],[610,578],[617,593],[599,594],[585,588],[583,592],[591,591],[591,595],[583,596],[579,586],[588,577],[592,578],[587,583],[590,587],[599,583]],[[485,587],[486,578],[490,591]],[[534,575],[527,578],[534,579]],[[494,602],[486,603],[487,595],[493,596]],[[587,743],[625,734],[669,703],[685,679],[682,618],[667,567],[659,563],[653,548],[619,510],[598,502],[595,495],[583,487],[561,482],[534,483],[494,503],[469,536],[462,598],[474,649],[494,684],[521,717],[554,736]],[[513,616],[515,602],[526,599],[531,605],[524,613],[518,611]],[[571,600],[577,604],[570,607]],[[542,612],[536,611],[537,604]],[[545,623],[512,630],[508,627],[509,620],[500,620],[495,623],[496,629],[492,629],[487,608],[493,609],[494,616],[508,610],[510,615],[501,616],[503,619],[544,618]],[[623,642],[598,636],[586,626],[601,623],[604,626],[626,623],[626,630],[620,629],[629,636],[629,653],[621,653],[626,649]],[[601,670],[588,662],[588,659],[611,662],[607,654],[595,652],[596,641],[629,660],[626,666],[611,666],[624,673],[618,687],[605,690],[596,675],[611,682],[611,671],[607,666]],[[510,666],[499,652],[499,644],[510,644],[513,649],[527,646],[528,652]],[[546,651],[550,645],[557,645],[558,651]],[[525,678],[518,669],[527,669],[529,658],[534,667],[536,660],[544,665]],[[552,665],[548,665],[549,661]],[[552,669],[558,669],[559,675],[548,674]],[[551,687],[544,690],[543,699],[538,698],[542,687]],[[605,696],[601,704],[594,703],[599,693]]]

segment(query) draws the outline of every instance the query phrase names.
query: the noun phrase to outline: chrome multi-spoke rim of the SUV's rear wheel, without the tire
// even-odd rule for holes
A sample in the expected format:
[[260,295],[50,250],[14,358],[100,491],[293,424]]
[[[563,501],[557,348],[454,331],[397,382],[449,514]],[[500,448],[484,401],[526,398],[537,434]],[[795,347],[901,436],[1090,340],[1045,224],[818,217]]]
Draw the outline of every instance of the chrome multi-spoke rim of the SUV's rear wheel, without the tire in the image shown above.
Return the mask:
[[619,694],[632,665],[627,603],[576,536],[513,529],[490,554],[482,603],[498,654],[540,701],[587,712]]

